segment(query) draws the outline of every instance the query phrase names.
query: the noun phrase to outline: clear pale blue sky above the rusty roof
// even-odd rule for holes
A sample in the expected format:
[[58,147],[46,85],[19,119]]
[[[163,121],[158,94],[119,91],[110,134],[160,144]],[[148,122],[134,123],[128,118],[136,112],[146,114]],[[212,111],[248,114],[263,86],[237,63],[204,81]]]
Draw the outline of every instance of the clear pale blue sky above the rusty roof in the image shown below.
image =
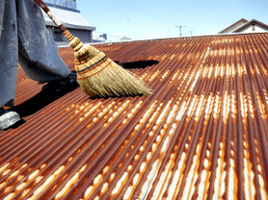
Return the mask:
[[268,24],[267,0],[77,0],[77,9],[108,40],[179,37],[180,25],[182,36],[217,34],[241,18]]

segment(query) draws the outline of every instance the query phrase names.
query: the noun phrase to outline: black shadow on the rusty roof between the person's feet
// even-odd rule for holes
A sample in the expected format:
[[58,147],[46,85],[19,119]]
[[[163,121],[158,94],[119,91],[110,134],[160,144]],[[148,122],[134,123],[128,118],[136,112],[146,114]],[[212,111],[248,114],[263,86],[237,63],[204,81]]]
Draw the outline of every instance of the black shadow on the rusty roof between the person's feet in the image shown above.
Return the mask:
[[16,129],[20,127],[23,123],[25,123],[25,121],[22,118],[29,116],[35,112],[38,112],[42,108],[46,107],[46,105],[51,104],[55,100],[68,94],[77,87],[79,87],[78,84],[66,85],[66,86],[60,84],[54,84],[54,85],[46,84],[45,86],[43,86],[42,90],[36,96],[33,96],[26,102],[16,105],[9,109],[9,111],[18,112],[21,116],[21,121],[18,121],[9,129]]

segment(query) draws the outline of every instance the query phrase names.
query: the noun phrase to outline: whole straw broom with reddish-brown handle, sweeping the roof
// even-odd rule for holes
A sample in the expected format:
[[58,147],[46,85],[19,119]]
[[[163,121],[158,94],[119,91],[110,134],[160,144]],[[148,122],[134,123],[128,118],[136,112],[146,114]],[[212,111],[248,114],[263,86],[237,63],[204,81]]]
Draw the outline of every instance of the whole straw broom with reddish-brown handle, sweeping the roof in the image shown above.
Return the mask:
[[42,0],[35,0],[55,25],[61,29],[75,51],[75,70],[82,90],[93,97],[150,95],[151,88],[114,63],[93,46],[84,46],[78,37],[63,27]]

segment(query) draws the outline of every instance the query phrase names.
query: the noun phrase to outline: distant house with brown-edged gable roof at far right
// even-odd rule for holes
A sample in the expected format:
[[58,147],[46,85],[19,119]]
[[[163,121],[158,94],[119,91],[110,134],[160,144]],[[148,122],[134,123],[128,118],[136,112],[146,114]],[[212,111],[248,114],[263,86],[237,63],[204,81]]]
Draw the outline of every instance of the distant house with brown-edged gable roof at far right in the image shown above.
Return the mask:
[[247,21],[244,18],[233,23],[230,27],[223,29],[219,34],[222,33],[250,33],[250,32],[266,32],[268,31],[268,25],[261,21]]

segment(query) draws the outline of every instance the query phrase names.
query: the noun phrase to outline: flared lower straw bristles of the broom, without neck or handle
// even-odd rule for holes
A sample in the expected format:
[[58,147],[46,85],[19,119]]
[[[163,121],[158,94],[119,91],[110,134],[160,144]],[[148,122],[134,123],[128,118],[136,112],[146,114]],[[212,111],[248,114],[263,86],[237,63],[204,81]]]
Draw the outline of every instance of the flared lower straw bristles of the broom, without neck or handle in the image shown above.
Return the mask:
[[[100,66],[78,73],[80,87],[88,96],[150,95],[151,89],[109,58]],[[84,77],[84,79],[83,79]]]

